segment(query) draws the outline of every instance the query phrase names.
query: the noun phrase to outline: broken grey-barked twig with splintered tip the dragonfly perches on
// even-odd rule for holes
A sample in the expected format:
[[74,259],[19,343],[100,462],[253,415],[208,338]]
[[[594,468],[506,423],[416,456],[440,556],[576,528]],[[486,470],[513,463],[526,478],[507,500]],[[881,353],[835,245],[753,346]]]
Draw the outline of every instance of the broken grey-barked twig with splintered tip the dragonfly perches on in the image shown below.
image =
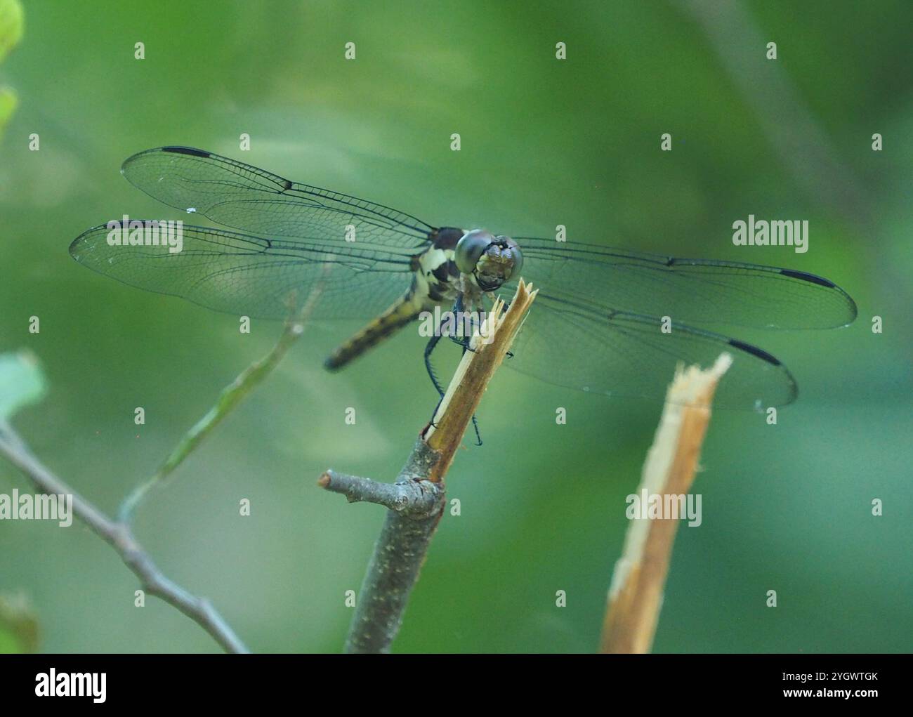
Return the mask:
[[346,652],[390,651],[431,536],[444,514],[447,469],[535,295],[520,280],[506,312],[496,301],[483,329],[490,343],[480,343],[478,333],[473,337],[473,351],[464,354],[432,425],[415,441],[394,485],[330,470],[320,477],[320,487],[342,493],[349,501],[376,502],[391,509],[362,582]]

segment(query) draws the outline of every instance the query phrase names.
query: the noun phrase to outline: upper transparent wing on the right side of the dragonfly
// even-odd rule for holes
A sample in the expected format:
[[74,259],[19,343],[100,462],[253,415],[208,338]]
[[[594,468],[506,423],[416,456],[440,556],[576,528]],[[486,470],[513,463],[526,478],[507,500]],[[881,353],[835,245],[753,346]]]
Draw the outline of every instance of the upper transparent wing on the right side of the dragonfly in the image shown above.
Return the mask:
[[779,329],[844,326],[856,315],[844,290],[803,271],[515,238],[524,279],[594,311]]

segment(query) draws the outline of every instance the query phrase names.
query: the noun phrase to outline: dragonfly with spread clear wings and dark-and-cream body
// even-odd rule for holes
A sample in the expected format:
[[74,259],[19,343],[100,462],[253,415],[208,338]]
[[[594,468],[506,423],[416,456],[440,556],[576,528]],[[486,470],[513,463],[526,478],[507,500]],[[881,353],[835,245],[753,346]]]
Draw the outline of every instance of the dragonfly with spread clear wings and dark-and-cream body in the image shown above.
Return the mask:
[[[856,315],[844,290],[805,271],[436,226],[192,147],[134,154],[121,173],[163,204],[229,228],[183,226],[175,251],[112,242],[109,223],[73,240],[73,258],[133,287],[253,318],[287,318],[291,292],[314,292],[315,318],[371,320],[331,353],[331,370],[423,311],[484,311],[522,275],[539,294],[505,365],[585,392],[662,400],[677,364],[728,352],[714,405],[758,410],[795,400],[792,374],[707,327],[835,328]],[[440,391],[437,338],[425,367]]]

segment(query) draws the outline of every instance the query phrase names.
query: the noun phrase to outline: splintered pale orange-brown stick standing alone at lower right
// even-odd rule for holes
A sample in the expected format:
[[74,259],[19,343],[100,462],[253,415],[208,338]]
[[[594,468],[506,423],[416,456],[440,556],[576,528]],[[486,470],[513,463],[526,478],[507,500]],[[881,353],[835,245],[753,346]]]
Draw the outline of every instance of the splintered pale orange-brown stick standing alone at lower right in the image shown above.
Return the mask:
[[[710,419],[710,402],[732,359],[723,353],[712,368],[679,367],[647,453],[638,492],[686,495],[694,481],[700,447]],[[632,520],[615,564],[603,623],[601,651],[650,651],[662,606],[663,587],[678,520]]]

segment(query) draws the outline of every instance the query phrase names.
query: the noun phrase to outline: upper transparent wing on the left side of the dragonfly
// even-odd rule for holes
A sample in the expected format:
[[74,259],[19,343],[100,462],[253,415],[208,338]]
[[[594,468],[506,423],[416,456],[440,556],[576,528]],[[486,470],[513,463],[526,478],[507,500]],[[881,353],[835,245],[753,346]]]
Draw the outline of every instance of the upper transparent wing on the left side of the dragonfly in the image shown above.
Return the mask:
[[268,237],[420,248],[435,227],[388,206],[291,182],[191,147],[159,147],[121,166],[132,185],[169,206]]

